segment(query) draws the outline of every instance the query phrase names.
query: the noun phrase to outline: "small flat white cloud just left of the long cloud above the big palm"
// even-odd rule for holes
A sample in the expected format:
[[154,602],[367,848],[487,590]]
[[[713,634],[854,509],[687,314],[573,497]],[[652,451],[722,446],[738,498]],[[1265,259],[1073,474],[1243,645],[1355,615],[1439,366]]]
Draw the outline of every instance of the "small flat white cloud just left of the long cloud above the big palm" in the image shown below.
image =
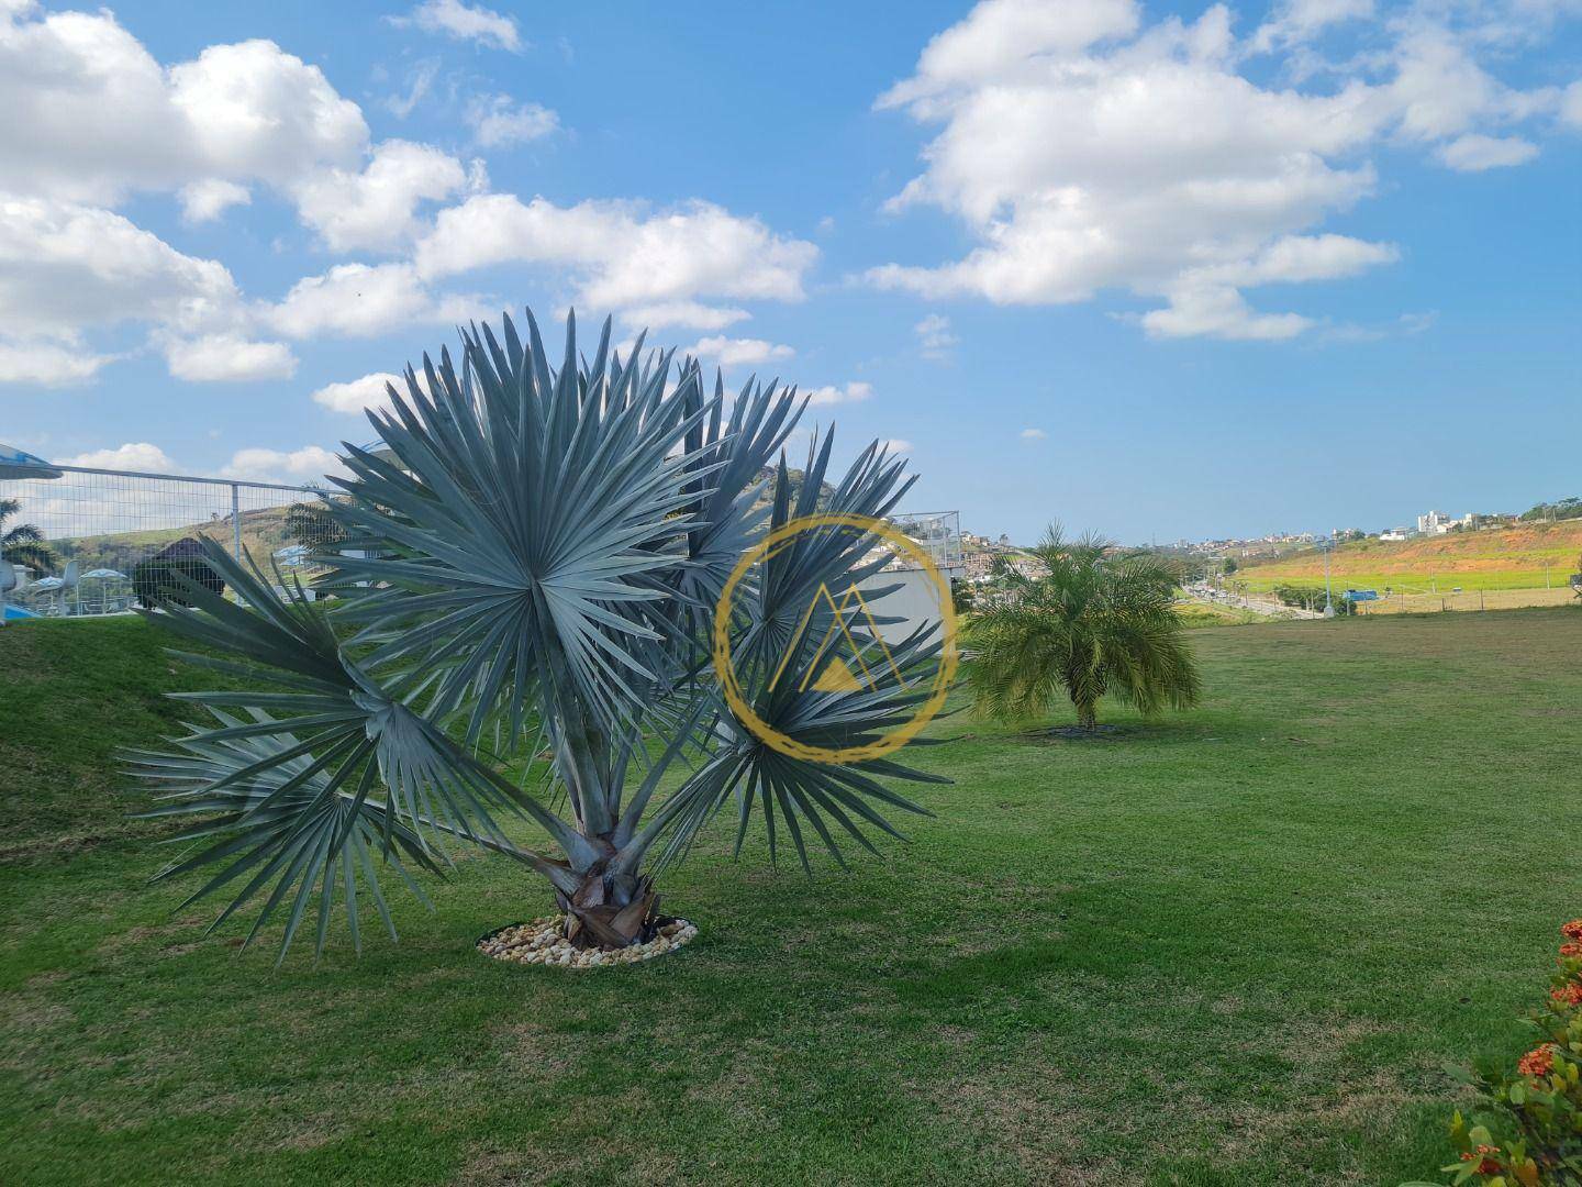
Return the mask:
[[261,317],[293,339],[373,337],[410,324],[457,324],[489,317],[478,298],[437,296],[411,264],[337,264],[304,277]]

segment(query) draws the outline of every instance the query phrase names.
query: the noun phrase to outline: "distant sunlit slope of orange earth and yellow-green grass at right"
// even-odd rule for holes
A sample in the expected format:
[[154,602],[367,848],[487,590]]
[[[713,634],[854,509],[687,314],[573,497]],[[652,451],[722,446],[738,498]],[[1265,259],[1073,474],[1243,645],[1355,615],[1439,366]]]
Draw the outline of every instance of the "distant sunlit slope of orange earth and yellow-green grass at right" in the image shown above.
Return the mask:
[[[1342,586],[1386,586],[1413,592],[1462,589],[1542,589],[1565,586],[1582,552],[1582,519],[1522,524],[1498,532],[1451,532],[1425,540],[1359,540],[1335,549],[1332,576]],[[1324,554],[1308,549],[1270,563],[1245,562],[1236,573],[1255,592],[1281,581],[1324,582]]]

